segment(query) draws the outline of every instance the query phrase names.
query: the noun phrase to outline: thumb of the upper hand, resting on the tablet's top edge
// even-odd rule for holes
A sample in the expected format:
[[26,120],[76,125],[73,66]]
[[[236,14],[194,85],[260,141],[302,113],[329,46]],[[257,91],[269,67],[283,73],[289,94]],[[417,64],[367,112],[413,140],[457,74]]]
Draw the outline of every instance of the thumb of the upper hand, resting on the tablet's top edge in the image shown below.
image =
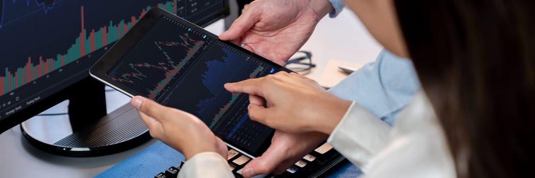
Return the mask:
[[238,39],[245,34],[247,30],[253,27],[258,20],[256,12],[245,11],[238,17],[238,19],[236,19],[236,21],[234,21],[234,23],[232,23],[231,27],[225,31],[225,33],[219,35],[219,39],[223,41]]

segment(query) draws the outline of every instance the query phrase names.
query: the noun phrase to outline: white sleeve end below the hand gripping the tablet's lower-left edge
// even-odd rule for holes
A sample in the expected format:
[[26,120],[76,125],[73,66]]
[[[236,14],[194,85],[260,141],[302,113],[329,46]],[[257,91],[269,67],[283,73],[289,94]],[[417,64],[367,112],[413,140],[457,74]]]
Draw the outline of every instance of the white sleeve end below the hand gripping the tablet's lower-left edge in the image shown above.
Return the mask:
[[178,177],[234,177],[227,160],[216,152],[197,153],[186,161]]

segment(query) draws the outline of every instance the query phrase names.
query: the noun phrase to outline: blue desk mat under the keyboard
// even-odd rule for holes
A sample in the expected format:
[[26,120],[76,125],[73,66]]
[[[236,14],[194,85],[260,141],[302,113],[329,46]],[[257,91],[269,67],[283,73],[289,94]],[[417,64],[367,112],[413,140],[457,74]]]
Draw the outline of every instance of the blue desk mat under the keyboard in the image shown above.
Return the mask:
[[[165,172],[166,168],[180,165],[182,160],[184,155],[158,141],[95,177],[154,177],[159,172]],[[357,177],[362,174],[349,161],[341,164],[326,177]]]

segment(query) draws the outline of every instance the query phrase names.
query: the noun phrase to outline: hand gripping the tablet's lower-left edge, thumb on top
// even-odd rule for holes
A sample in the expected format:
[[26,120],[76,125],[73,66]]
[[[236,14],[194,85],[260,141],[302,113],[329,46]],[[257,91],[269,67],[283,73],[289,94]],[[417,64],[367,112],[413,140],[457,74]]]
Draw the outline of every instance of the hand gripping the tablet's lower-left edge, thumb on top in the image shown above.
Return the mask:
[[227,146],[201,119],[141,96],[132,98],[131,104],[149,127],[150,135],[180,151],[186,159],[208,151],[227,158]]

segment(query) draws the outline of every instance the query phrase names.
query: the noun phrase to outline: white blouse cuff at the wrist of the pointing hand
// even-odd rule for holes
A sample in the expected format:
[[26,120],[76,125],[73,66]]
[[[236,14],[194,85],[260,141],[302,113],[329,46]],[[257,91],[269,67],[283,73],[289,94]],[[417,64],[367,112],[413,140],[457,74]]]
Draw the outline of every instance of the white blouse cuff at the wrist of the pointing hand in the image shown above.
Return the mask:
[[369,160],[388,143],[390,128],[353,102],[327,142],[365,173]]

